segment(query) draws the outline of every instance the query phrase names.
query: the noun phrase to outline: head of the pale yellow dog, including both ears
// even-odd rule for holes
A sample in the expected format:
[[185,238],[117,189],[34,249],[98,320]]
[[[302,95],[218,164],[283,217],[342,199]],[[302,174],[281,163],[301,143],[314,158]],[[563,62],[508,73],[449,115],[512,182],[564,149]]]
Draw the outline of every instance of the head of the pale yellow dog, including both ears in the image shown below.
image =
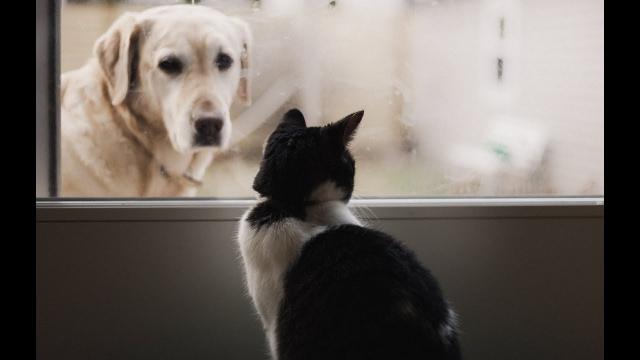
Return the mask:
[[113,105],[164,132],[180,153],[225,147],[234,98],[249,102],[251,34],[211,8],[124,14],[96,43]]

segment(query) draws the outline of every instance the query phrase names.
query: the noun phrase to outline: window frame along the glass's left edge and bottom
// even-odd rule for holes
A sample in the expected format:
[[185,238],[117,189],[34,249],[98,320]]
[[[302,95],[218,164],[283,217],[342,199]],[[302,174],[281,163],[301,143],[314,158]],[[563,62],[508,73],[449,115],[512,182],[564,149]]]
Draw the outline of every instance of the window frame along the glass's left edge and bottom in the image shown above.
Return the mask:
[[[87,215],[102,214],[108,218],[184,219],[196,216],[209,220],[237,219],[244,209],[255,203],[248,199],[195,198],[60,198],[60,0],[36,2],[36,209],[45,219],[63,220],[64,214],[84,216],[82,209],[98,209]],[[43,16],[45,14],[45,16]],[[42,44],[45,46],[43,47]],[[39,73],[38,69],[44,69]],[[40,75],[40,76],[39,76]],[[38,107],[44,107],[38,111]],[[46,110],[46,111],[44,111]],[[38,131],[40,130],[40,131]],[[43,185],[46,184],[46,185]],[[428,198],[368,198],[352,200],[354,208],[366,207],[374,218],[419,219],[421,217],[475,216],[603,216],[604,195],[601,196],[509,196],[509,197],[428,197]],[[118,210],[125,211],[119,213]],[[140,209],[153,210],[142,216]],[[442,213],[442,210],[447,211]],[[500,209],[499,211],[496,211]],[[52,215],[60,210],[60,215]],[[204,211],[204,212],[203,212]],[[505,212],[506,211],[506,212]],[[51,218],[53,216],[53,218]],[[58,216],[61,216],[58,218]]]

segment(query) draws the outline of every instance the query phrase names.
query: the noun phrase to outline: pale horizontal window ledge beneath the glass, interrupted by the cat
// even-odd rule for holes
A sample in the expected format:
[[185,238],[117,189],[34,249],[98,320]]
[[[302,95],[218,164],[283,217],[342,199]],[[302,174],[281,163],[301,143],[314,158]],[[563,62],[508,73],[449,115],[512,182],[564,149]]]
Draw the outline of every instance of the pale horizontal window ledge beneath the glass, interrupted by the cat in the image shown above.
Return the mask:
[[[250,199],[36,199],[36,221],[236,221],[254,203]],[[350,207],[368,220],[598,218],[604,216],[604,197],[358,199]]]

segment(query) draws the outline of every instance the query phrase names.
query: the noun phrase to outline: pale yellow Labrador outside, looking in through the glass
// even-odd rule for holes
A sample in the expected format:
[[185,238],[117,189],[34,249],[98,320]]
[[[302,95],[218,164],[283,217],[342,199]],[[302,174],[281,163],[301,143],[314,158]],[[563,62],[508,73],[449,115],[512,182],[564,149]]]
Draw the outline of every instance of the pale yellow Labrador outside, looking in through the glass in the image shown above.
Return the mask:
[[250,101],[251,32],[197,5],[125,13],[62,75],[63,196],[193,196]]

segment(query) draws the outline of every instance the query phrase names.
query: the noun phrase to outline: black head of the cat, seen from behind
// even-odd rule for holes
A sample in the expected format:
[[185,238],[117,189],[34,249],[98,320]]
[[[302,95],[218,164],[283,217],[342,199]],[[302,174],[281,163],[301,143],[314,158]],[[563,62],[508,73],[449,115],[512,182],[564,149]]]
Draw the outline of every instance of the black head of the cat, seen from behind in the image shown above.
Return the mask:
[[355,161],[349,142],[364,111],[322,127],[307,127],[289,110],[269,136],[253,189],[261,196],[298,206],[351,198]]

